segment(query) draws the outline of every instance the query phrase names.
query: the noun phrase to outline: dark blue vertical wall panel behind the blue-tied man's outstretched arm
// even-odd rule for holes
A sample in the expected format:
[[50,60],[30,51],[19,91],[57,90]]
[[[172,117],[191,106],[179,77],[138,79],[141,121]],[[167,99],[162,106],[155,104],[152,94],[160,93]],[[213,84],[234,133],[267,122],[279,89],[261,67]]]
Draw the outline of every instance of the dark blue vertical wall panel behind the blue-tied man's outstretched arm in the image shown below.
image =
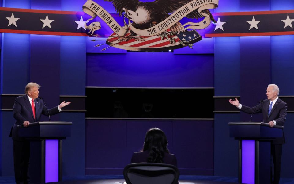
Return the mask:
[[[266,88],[271,83],[270,36],[241,37],[240,50],[240,96],[244,105],[253,107],[266,98]],[[250,120],[250,114],[240,115],[241,121]],[[255,115],[252,121],[256,121],[255,117],[262,121],[262,114]]]

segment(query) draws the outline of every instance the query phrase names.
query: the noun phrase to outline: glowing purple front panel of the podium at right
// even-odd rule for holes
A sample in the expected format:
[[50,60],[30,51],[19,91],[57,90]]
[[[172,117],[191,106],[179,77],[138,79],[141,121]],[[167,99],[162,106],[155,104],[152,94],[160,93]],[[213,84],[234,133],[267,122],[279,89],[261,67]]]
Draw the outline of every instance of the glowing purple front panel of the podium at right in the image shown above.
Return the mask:
[[242,183],[254,184],[255,140],[242,140]]

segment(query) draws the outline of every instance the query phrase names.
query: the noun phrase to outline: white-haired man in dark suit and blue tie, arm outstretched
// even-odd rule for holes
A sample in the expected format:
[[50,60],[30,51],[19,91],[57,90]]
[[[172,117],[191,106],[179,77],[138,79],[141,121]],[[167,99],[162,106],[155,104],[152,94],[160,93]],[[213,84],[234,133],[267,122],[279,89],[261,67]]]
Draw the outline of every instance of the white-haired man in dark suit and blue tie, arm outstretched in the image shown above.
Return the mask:
[[[269,123],[270,127],[273,127],[274,125],[284,126],[287,115],[287,104],[278,98],[279,93],[280,90],[277,85],[269,84],[266,89],[267,99],[263,100],[255,107],[250,108],[248,106],[242,105],[239,103],[237,98],[235,98],[235,100],[230,99],[229,102],[237,106],[245,113],[262,113],[263,122]],[[282,138],[276,138],[271,143],[271,155],[273,157],[274,167],[273,174],[271,169],[271,182],[274,184],[278,184],[280,181],[282,144],[284,143],[284,132]]]

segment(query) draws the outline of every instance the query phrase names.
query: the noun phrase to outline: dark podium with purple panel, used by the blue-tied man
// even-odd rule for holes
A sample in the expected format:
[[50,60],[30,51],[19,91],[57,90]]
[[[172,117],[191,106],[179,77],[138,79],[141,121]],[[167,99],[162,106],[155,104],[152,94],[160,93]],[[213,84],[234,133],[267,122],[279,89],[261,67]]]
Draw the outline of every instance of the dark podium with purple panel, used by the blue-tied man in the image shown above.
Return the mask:
[[239,140],[239,183],[270,183],[270,144],[283,136],[283,126],[262,122],[230,122],[230,137]]

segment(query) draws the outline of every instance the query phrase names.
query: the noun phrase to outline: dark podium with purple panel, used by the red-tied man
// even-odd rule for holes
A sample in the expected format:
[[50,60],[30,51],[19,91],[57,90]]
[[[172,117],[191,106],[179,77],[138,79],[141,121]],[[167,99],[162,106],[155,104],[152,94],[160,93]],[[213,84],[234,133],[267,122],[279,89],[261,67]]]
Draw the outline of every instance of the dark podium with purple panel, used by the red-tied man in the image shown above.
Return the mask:
[[62,139],[70,137],[70,125],[43,121],[17,126],[18,136],[30,140],[30,183],[62,181]]

